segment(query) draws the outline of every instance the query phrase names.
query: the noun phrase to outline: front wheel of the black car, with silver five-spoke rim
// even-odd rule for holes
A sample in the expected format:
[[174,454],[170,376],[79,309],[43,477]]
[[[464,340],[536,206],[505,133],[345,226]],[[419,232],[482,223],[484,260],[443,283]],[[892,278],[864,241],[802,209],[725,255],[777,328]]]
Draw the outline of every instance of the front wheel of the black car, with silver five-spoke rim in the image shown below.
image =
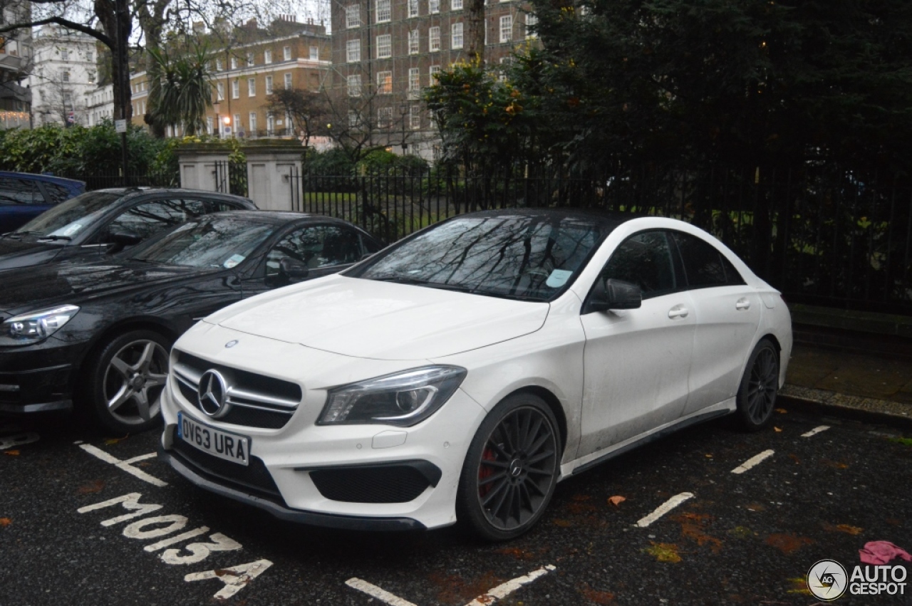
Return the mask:
[[171,342],[150,330],[119,334],[102,344],[85,367],[85,405],[117,435],[161,423],[159,395],[168,378]]

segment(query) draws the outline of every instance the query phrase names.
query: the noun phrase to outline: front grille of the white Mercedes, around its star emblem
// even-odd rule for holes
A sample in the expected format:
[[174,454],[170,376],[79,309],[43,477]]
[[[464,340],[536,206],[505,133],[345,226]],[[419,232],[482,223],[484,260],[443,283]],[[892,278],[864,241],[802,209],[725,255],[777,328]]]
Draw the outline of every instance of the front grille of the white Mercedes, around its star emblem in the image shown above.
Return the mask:
[[174,378],[181,395],[200,409],[197,390],[200,377],[207,370],[218,370],[232,377],[233,385],[227,392],[228,413],[219,417],[223,423],[233,425],[280,429],[285,426],[301,403],[301,386],[271,376],[257,375],[245,370],[206,362],[195,355],[177,352]]

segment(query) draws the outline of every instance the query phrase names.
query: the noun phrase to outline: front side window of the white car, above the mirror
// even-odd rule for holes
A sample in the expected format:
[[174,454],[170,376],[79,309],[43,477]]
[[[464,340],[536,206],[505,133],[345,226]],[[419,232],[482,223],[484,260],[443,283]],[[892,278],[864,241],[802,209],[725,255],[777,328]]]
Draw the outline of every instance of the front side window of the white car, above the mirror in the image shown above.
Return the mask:
[[664,231],[644,231],[621,242],[602,270],[602,280],[638,284],[643,298],[675,290],[671,250]]

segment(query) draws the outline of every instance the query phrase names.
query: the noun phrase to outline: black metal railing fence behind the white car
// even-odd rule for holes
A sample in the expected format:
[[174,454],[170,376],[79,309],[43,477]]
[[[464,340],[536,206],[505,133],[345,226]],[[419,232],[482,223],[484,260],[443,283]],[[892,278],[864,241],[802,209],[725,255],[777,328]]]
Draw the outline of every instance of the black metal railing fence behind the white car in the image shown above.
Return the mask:
[[385,241],[463,212],[583,207],[688,221],[793,302],[912,314],[912,185],[851,171],[679,169],[600,179],[420,170],[293,174],[295,210],[353,221]]

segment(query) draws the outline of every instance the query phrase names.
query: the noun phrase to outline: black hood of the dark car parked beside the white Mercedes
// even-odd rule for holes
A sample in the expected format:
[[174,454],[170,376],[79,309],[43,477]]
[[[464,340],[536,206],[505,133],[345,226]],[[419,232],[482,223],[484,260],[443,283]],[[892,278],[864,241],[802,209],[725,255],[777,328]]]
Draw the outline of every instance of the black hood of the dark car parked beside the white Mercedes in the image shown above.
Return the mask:
[[0,273],[0,310],[25,313],[63,303],[82,304],[112,292],[186,277],[183,267],[139,262],[48,263]]

